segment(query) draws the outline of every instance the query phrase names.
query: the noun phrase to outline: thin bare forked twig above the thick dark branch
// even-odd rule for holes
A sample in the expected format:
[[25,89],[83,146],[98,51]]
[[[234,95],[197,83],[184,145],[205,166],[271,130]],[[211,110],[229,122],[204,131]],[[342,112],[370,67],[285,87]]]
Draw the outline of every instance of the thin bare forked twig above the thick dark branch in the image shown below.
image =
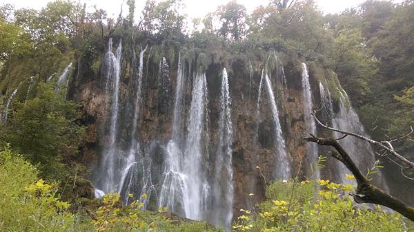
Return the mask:
[[394,148],[393,148],[393,146],[391,145],[391,143],[393,143],[393,142],[395,142],[395,141],[397,141],[397,140],[401,140],[402,138],[406,138],[406,137],[410,136],[411,134],[413,134],[413,127],[411,127],[411,132],[410,132],[410,133],[408,133],[408,134],[406,134],[405,136],[402,136],[402,137],[400,137],[400,138],[396,138],[396,139],[393,139],[393,140],[389,140],[389,141],[381,141],[381,142],[378,142],[378,141],[376,141],[376,140],[373,140],[373,139],[371,139],[371,138],[366,138],[366,137],[361,136],[361,135],[359,135],[359,134],[355,134],[355,133],[352,133],[352,132],[342,131],[342,130],[339,130],[339,129],[336,129],[336,128],[333,128],[333,127],[328,127],[327,125],[325,125],[324,123],[322,123],[322,122],[321,122],[321,121],[317,118],[317,116],[315,115],[315,112],[313,112],[313,113],[312,113],[312,116],[313,116],[313,118],[315,118],[316,122],[317,122],[319,125],[321,125],[322,127],[326,128],[326,129],[329,129],[329,130],[331,130],[331,131],[336,131],[336,132],[339,132],[339,133],[341,133],[341,134],[346,134],[346,135],[348,135],[348,136],[354,136],[354,137],[359,138],[359,139],[362,139],[362,140],[364,140],[364,141],[366,141],[366,142],[368,142],[368,143],[371,143],[371,144],[373,144],[373,145],[375,145],[375,146],[377,146],[377,147],[380,147],[380,148],[382,148],[382,149],[384,149],[384,150],[388,151],[390,154],[392,154],[393,156],[395,156],[395,157],[396,157],[398,160],[400,160],[401,162],[404,162],[404,164],[408,165],[408,167],[407,167],[407,168],[409,168],[409,169],[413,169],[413,168],[414,168],[414,162],[411,162],[410,160],[408,160],[408,159],[404,158],[404,156],[402,156],[402,155],[398,154],[398,153],[397,153],[397,151],[395,151],[395,149],[394,149]]

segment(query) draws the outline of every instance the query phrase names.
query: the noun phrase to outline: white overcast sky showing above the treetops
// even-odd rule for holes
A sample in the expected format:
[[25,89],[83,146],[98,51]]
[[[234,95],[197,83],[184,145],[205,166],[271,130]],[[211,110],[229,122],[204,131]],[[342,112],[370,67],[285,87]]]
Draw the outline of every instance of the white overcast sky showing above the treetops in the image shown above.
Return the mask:
[[[29,7],[40,10],[49,0],[1,0],[3,3],[11,3],[17,8]],[[161,1],[161,0],[157,0]],[[213,12],[217,9],[217,6],[223,5],[230,0],[184,0],[186,5],[186,14],[190,18],[203,17],[208,12]],[[324,13],[339,13],[346,8],[351,8],[362,3],[364,0],[315,0],[319,9]],[[87,6],[91,7],[97,5],[98,8],[103,8],[108,12],[109,16],[117,16],[122,0],[79,0],[79,2],[87,3]],[[145,0],[136,0],[135,12],[141,12]],[[246,6],[248,12],[253,11],[257,6],[266,6],[269,0],[238,0],[238,3],[242,3]],[[124,6],[124,12],[128,12],[126,4]]]

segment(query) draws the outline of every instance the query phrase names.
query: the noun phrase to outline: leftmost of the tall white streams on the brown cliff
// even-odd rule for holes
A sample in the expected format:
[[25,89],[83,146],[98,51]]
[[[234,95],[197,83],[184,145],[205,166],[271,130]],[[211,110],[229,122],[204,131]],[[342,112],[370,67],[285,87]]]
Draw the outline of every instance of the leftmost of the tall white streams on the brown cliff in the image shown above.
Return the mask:
[[109,193],[112,190],[117,190],[117,176],[119,176],[117,168],[117,154],[116,138],[118,131],[118,114],[119,114],[119,79],[121,76],[121,50],[122,43],[119,40],[118,48],[115,54],[112,53],[112,39],[108,43],[108,52],[105,55],[106,67],[106,93],[112,93],[112,105],[110,111],[110,131],[109,143],[104,148],[101,156],[101,173],[99,173],[99,180],[101,183],[101,190]]

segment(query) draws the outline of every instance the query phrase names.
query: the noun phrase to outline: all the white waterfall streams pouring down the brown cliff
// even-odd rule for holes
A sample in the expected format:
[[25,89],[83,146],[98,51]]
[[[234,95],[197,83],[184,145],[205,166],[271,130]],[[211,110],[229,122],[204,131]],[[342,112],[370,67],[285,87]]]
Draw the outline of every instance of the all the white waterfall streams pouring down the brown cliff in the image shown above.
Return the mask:
[[[129,198],[129,193],[134,193],[135,199],[146,193],[150,196],[153,192],[158,193],[157,205],[160,207],[166,207],[168,211],[172,211],[186,218],[193,220],[209,220],[217,226],[221,226],[224,229],[230,228],[230,224],[233,218],[233,195],[235,189],[233,187],[233,167],[232,167],[232,152],[233,152],[233,125],[232,125],[232,112],[231,112],[231,98],[230,88],[228,82],[228,75],[226,69],[223,70],[221,75],[221,97],[220,106],[215,115],[218,117],[218,122],[212,123],[212,125],[218,125],[217,132],[213,134],[212,140],[214,141],[214,151],[209,152],[208,145],[210,145],[209,138],[209,114],[208,114],[208,93],[207,93],[207,81],[205,73],[191,73],[190,62],[182,62],[181,56],[178,58],[177,69],[177,84],[174,100],[174,110],[172,114],[172,127],[171,138],[168,141],[166,147],[157,140],[157,146],[159,150],[154,150],[154,156],[146,149],[146,142],[140,141],[139,136],[139,116],[143,114],[140,112],[142,96],[147,96],[152,101],[152,98],[157,99],[156,114],[155,117],[163,116],[168,119],[170,116],[170,108],[166,107],[164,112],[160,112],[163,107],[162,100],[169,98],[170,90],[170,78],[169,67],[165,58],[159,62],[159,74],[154,75],[154,80],[158,81],[157,89],[155,90],[154,84],[148,84],[148,93],[141,93],[142,86],[145,85],[146,79],[143,76],[144,69],[144,54],[147,48],[144,50],[141,48],[139,54],[139,66],[138,59],[132,61],[132,76],[135,78],[128,83],[134,85],[134,92],[131,92],[131,98],[135,101],[132,104],[126,103],[126,108],[121,108],[122,112],[127,112],[124,115],[118,115],[119,113],[119,81],[121,75],[121,41],[117,51],[112,53],[112,39],[108,45],[108,52],[106,53],[103,67],[103,76],[106,77],[106,96],[110,98],[110,122],[108,123],[108,141],[107,146],[103,150],[101,156],[101,164],[99,165],[99,173],[97,176],[97,187],[95,193],[96,196],[102,196],[103,193],[108,193],[111,190],[119,192],[124,204],[128,204],[133,198]],[[135,52],[134,52],[135,53]],[[275,55],[275,54],[274,54]],[[273,56],[273,55],[272,55]],[[273,73],[275,79],[274,85],[278,85],[277,89],[282,87],[286,88],[286,76],[284,75],[283,66],[279,65],[280,61],[275,55],[276,66],[275,68],[265,67],[262,70],[262,76],[259,84],[259,94],[257,98],[257,120],[259,120],[260,114],[268,114],[269,120],[264,123],[264,127],[270,128],[270,136],[273,140],[270,143],[266,141],[264,148],[270,147],[274,149],[274,155],[271,157],[275,160],[274,171],[272,178],[288,179],[292,177],[292,171],[290,166],[290,160],[286,151],[286,140],[282,131],[282,125],[279,118],[279,109],[277,102],[284,101],[284,96],[281,99],[277,99],[277,96],[281,96],[277,92],[273,92],[270,73]],[[273,62],[273,60],[272,60]],[[148,61],[147,61],[148,64]],[[187,66],[188,65],[188,66]],[[250,65],[250,83],[246,83],[246,87],[251,87],[253,84],[253,67]],[[302,64],[304,72],[302,74],[302,87],[304,98],[304,112],[308,113],[309,118],[305,117],[307,133],[315,134],[316,126],[315,121],[312,120],[310,113],[313,109],[313,97],[311,95],[311,87],[309,84],[309,76],[306,64]],[[188,69],[188,72],[186,72]],[[268,71],[273,70],[273,71]],[[275,72],[274,72],[275,71]],[[138,74],[137,74],[137,73]],[[148,68],[147,68],[148,72]],[[151,71],[150,71],[151,72]],[[269,72],[269,73],[268,73]],[[282,75],[282,76],[281,76]],[[143,79],[144,78],[144,79]],[[157,80],[156,80],[157,79]],[[209,80],[210,81],[210,80]],[[213,85],[212,85],[213,86]],[[333,114],[333,106],[331,100],[331,94],[329,89],[322,89],[321,95],[325,96],[324,102],[330,103],[330,111]],[[132,89],[132,88],[131,88]],[[145,87],[144,87],[145,89]],[[247,89],[246,89],[247,90]],[[250,92],[250,89],[249,89]],[[300,94],[300,92],[299,92]],[[133,96],[133,97],[132,97]],[[161,97],[161,98],[159,98]],[[217,96],[218,97],[218,96]],[[267,105],[262,104],[266,98],[266,103],[270,109],[264,109]],[[356,114],[351,109],[345,107],[347,105],[348,96],[345,93],[341,95],[343,109],[339,109],[337,115],[333,116],[332,122],[336,123],[337,127],[351,127],[348,124],[359,123],[359,120],[355,118]],[[126,98],[129,99],[129,98]],[[186,103],[186,99],[190,99],[190,103]],[[121,101],[124,103],[124,101]],[[213,101],[213,103],[216,103]],[[286,102],[284,102],[286,103]],[[285,107],[285,104],[279,104],[279,107]],[[168,105],[168,104],[166,104]],[[189,105],[189,109],[186,107]],[[261,109],[262,108],[262,109]],[[215,109],[215,107],[213,107]],[[284,110],[284,108],[282,108]],[[133,110],[133,112],[132,112]],[[302,112],[302,110],[300,111]],[[144,112],[146,114],[147,112]],[[346,114],[346,116],[342,116]],[[355,114],[351,115],[350,114]],[[148,117],[148,122],[152,118]],[[128,131],[126,141],[117,138],[118,123],[124,123],[121,118],[132,118],[132,128]],[[270,119],[271,117],[271,119]],[[352,119],[346,121],[346,117]],[[163,119],[164,119],[163,118]],[[155,122],[159,122],[155,119]],[[118,122],[119,121],[119,122]],[[161,121],[161,120],[160,120]],[[143,119],[146,122],[146,118]],[[342,123],[342,124],[341,124]],[[148,123],[150,125],[151,123]],[[270,124],[270,127],[268,126]],[[129,125],[129,124],[127,124]],[[359,123],[360,125],[360,123]],[[262,125],[260,125],[262,126]],[[121,127],[121,126],[119,126]],[[259,128],[259,127],[257,127]],[[170,129],[170,128],[168,128]],[[261,129],[262,130],[262,129]],[[269,133],[266,131],[266,136]],[[258,131],[257,131],[258,132]],[[130,137],[129,136],[130,133]],[[121,134],[121,133],[119,133]],[[259,134],[259,133],[257,133]],[[119,136],[120,137],[120,136]],[[143,136],[144,138],[144,136]],[[267,137],[269,138],[269,137]],[[267,139],[266,138],[266,139]],[[130,140],[129,140],[130,139]],[[128,143],[130,141],[130,143]],[[152,142],[154,142],[152,140]],[[261,142],[262,143],[262,142]],[[263,143],[263,144],[265,144]],[[341,142],[342,143],[342,142]],[[353,142],[354,143],[354,142]],[[161,144],[161,145],[160,145]],[[270,145],[269,145],[270,144]],[[121,146],[122,145],[122,146]],[[122,149],[122,147],[125,147]],[[317,150],[308,149],[309,163],[315,162],[317,157]],[[155,160],[155,156],[158,156],[159,160]],[[151,158],[150,158],[151,157]],[[370,160],[371,162],[372,160]],[[152,167],[154,162],[154,167]],[[365,162],[365,161],[361,161]],[[164,165],[164,166],[161,166]],[[163,168],[164,170],[162,170]],[[152,170],[152,173],[151,173]],[[155,171],[154,171],[155,170]],[[162,175],[161,171],[164,171]],[[319,177],[319,170],[315,176]],[[343,171],[344,170],[340,170]],[[342,175],[343,176],[343,175]],[[152,178],[157,182],[158,191],[155,191],[155,187],[152,184]],[[141,199],[144,202],[144,209],[148,204],[148,198]]]

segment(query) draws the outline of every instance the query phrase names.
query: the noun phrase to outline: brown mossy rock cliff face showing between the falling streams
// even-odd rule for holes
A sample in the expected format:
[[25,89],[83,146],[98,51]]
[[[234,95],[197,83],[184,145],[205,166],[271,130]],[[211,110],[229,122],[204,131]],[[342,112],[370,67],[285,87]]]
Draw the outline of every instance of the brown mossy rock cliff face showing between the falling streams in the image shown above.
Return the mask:
[[[126,45],[124,48],[129,49]],[[125,50],[127,50],[125,49]],[[149,49],[148,49],[149,50]],[[139,167],[146,166],[143,171],[137,171],[134,176],[126,172],[126,179],[139,182],[135,189],[135,196],[142,193],[141,190],[146,186],[144,176],[148,173],[150,178],[150,193],[148,208],[156,208],[159,201],[159,191],[166,165],[166,156],[168,154],[168,141],[172,138],[172,120],[175,109],[175,94],[177,92],[177,72],[178,72],[178,51],[174,59],[162,61],[160,56],[151,53],[151,50],[144,53],[144,63],[142,66],[142,76],[140,89],[140,110],[137,117],[137,132],[131,134],[133,118],[135,112],[135,103],[137,101],[137,78],[139,78],[139,57],[128,57],[123,55],[121,59],[121,75],[119,83],[119,118],[117,123],[117,152],[116,156],[127,156],[130,149],[131,141],[136,138],[139,141],[140,156],[144,160],[150,160],[150,165],[146,162],[137,162]],[[106,51],[105,51],[106,52]],[[134,52],[135,53],[135,52]],[[267,54],[266,51],[263,52]],[[126,52],[123,51],[123,54]],[[201,54],[196,54],[196,56]],[[213,56],[208,54],[208,57]],[[270,56],[270,53],[269,53]],[[266,56],[267,59],[268,56]],[[211,63],[203,67],[197,66],[195,59],[182,59],[184,65],[184,90],[183,90],[183,107],[181,107],[181,117],[184,118],[182,128],[183,136],[188,134],[188,120],[190,114],[190,104],[192,101],[193,85],[197,73],[206,73],[206,108],[207,116],[204,125],[208,132],[201,138],[202,156],[201,165],[204,167],[204,181],[208,182],[213,179],[213,170],[215,165],[212,160],[217,156],[217,143],[219,140],[219,120],[220,120],[220,96],[221,96],[221,76],[224,67],[228,70],[228,85],[231,98],[231,120],[233,123],[233,143],[232,148],[232,169],[233,169],[233,208],[234,215],[237,215],[237,209],[251,209],[256,202],[264,200],[266,182],[275,180],[278,176],[275,171],[283,169],[277,161],[277,146],[280,146],[275,134],[275,123],[273,112],[270,105],[271,99],[266,95],[261,96],[261,102],[258,107],[258,92],[262,78],[262,72],[268,73],[270,83],[275,94],[275,103],[279,110],[279,122],[282,129],[282,135],[286,141],[286,153],[288,156],[287,163],[290,165],[290,177],[298,176],[299,178],[312,178],[310,168],[312,160],[307,157],[307,149],[303,136],[308,134],[306,125],[306,114],[304,112],[304,87],[302,85],[303,67],[297,59],[288,59],[288,56],[279,57],[279,59],[267,59],[257,61],[220,61]],[[101,58],[101,70],[93,72],[90,70],[91,61],[79,59],[75,70],[75,78],[70,86],[70,95],[76,101],[83,102],[83,109],[86,112],[85,123],[89,125],[88,144],[83,151],[83,162],[92,170],[90,177],[92,182],[99,185],[100,173],[96,170],[101,165],[101,156],[105,152],[105,147],[110,143],[110,118],[111,105],[113,98],[111,93],[106,89],[106,71],[104,65],[104,56]],[[210,59],[210,58],[209,58]],[[284,60],[284,62],[282,62]],[[251,66],[251,63],[255,65]],[[341,104],[340,98],[337,98],[336,92],[342,90],[339,83],[335,83],[335,74],[329,70],[324,70],[315,63],[308,63],[309,83],[311,86],[311,101],[313,108],[323,106],[320,94],[319,83],[331,89],[333,105]],[[336,80],[337,81],[337,80]],[[339,86],[336,86],[339,85]],[[334,93],[335,92],[335,93]],[[344,95],[344,94],[343,94]],[[334,107],[335,108],[335,107]],[[259,113],[258,113],[259,110]],[[336,107],[333,109],[334,114],[339,111]],[[333,116],[321,115],[324,121],[331,124]],[[329,132],[317,128],[319,136],[328,135]],[[326,149],[319,148],[319,154],[326,155]],[[336,161],[328,158],[326,169],[322,170],[322,176],[338,180],[340,173],[335,166]],[[188,165],[183,163],[181,165]],[[361,164],[370,165],[370,164]],[[371,164],[372,165],[372,164]],[[260,171],[266,178],[262,177]],[[138,168],[140,169],[140,168]],[[148,170],[146,170],[148,169]],[[125,171],[122,169],[119,172]],[[146,172],[148,171],[148,173]],[[146,174],[147,173],[147,174]],[[228,178],[222,175],[221,178]],[[142,180],[141,180],[142,179]],[[143,182],[144,181],[144,182]],[[212,180],[213,181],[213,180]],[[225,180],[215,180],[220,183]],[[266,182],[265,182],[266,181]],[[338,180],[340,181],[340,180]],[[147,183],[148,184],[148,183]],[[122,185],[120,183],[120,185]],[[99,186],[95,186],[99,187]],[[228,186],[221,186],[226,189]],[[137,190],[138,189],[138,190]],[[116,190],[116,189],[115,189]],[[121,189],[122,191],[122,189]],[[253,196],[249,196],[254,193]],[[213,193],[210,193],[213,194]],[[208,194],[207,194],[208,195]],[[214,200],[213,200],[214,201]],[[217,203],[217,202],[216,202]],[[178,203],[177,203],[178,204]],[[206,209],[201,209],[199,218],[213,221],[215,224],[226,226],[226,222],[217,222],[211,214],[213,209],[209,205],[214,202],[203,204]],[[179,208],[179,207],[178,207]],[[178,209],[177,208],[177,209]],[[182,207],[181,207],[182,208]],[[177,213],[186,216],[184,210],[177,210]]]

